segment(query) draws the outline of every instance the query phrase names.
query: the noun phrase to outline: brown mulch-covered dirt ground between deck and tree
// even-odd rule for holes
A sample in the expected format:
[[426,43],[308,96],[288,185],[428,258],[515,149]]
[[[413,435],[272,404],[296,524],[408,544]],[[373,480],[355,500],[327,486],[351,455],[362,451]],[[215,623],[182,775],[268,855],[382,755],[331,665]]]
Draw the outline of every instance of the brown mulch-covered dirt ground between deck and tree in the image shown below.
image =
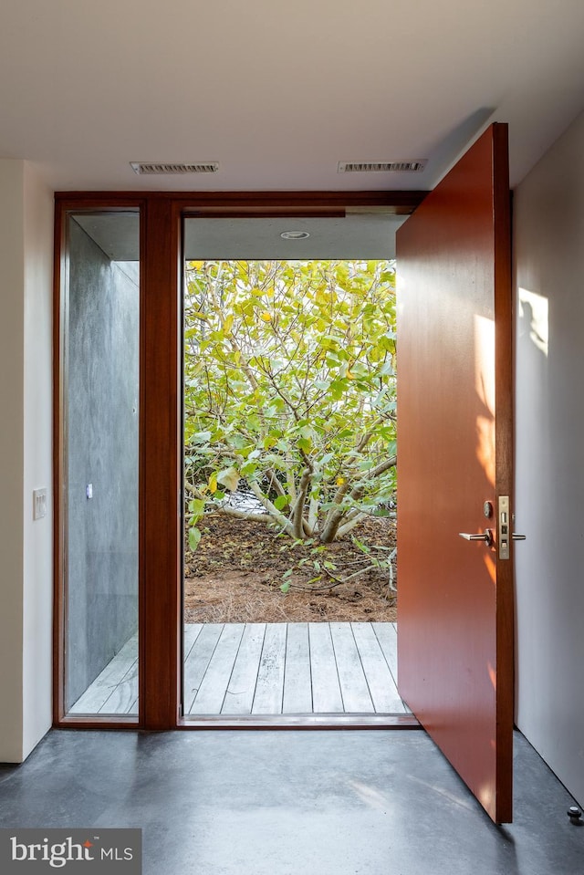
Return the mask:
[[[370,563],[351,540],[351,535],[357,536],[371,548],[371,555],[387,559],[395,547],[392,519],[367,519],[320,553],[311,552],[314,545],[292,546],[289,538],[276,536],[262,522],[213,514],[199,527],[199,546],[194,553],[187,548],[184,556],[185,622],[396,619],[389,570],[370,568],[356,574]],[[334,568],[323,571],[325,562]],[[394,588],[395,561],[392,565]],[[292,574],[285,578],[290,568]],[[355,576],[339,585],[338,580],[349,575]],[[280,589],[284,579],[290,583],[287,593]]]

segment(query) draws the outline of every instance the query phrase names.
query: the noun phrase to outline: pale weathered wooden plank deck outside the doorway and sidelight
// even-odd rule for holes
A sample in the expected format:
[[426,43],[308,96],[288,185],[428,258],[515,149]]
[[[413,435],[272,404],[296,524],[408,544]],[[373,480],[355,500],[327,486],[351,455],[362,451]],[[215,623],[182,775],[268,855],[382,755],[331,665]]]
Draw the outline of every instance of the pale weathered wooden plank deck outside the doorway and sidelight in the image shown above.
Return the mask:
[[[70,714],[137,714],[131,639]],[[394,623],[193,623],[184,714],[409,714],[396,687]]]

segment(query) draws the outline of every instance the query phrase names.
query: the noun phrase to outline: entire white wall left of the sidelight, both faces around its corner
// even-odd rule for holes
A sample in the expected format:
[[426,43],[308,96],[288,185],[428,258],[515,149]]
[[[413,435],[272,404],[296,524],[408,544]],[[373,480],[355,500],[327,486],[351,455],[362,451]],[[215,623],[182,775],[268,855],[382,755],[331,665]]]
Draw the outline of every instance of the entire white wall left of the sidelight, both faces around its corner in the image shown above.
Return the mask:
[[[52,222],[34,168],[0,160],[0,762],[51,724]],[[48,512],[33,522],[36,486]]]

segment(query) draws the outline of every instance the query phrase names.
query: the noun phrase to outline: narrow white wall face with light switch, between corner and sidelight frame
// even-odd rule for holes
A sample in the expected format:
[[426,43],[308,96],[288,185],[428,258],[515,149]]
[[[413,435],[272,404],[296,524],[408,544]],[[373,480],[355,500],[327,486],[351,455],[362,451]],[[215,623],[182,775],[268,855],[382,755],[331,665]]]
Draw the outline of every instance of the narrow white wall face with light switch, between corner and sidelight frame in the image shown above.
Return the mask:
[[[53,192],[25,164],[24,665],[23,755],[52,722]],[[47,516],[33,521],[33,489],[47,487]]]

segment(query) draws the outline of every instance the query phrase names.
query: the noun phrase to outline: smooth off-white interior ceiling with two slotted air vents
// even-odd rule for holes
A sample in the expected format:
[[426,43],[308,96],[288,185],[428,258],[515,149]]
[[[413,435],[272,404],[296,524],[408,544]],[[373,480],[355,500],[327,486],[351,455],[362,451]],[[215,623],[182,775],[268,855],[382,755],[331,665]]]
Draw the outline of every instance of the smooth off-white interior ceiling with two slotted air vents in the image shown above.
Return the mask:
[[428,189],[498,120],[516,183],[584,106],[583,37],[583,0],[2,0],[0,157],[57,190]]

